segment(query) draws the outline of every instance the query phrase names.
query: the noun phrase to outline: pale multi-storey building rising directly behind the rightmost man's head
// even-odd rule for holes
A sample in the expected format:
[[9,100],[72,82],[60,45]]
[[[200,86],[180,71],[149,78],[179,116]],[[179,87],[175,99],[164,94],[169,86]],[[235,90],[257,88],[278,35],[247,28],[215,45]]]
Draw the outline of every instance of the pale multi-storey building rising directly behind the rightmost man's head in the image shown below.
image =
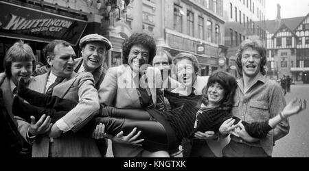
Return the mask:
[[225,23],[225,46],[229,71],[236,74],[236,53],[247,38],[260,38],[266,45],[265,0],[223,1]]

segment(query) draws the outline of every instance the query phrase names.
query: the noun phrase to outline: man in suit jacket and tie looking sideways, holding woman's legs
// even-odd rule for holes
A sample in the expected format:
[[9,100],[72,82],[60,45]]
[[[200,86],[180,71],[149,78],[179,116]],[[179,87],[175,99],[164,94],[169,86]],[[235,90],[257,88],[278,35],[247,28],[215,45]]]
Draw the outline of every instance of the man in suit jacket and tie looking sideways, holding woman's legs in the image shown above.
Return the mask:
[[[78,102],[64,117],[52,125],[49,135],[48,125],[35,127],[37,123],[17,120],[19,131],[28,142],[32,142],[33,157],[101,157],[92,138],[74,134],[80,130],[100,108],[98,91],[94,87],[91,73],[73,73],[73,59],[76,54],[69,43],[54,40],[45,47],[49,73],[30,80],[29,88],[44,93],[49,91],[59,77],[61,83],[54,86],[52,94]],[[47,117],[48,118],[48,117]],[[38,122],[47,122],[41,118]]]

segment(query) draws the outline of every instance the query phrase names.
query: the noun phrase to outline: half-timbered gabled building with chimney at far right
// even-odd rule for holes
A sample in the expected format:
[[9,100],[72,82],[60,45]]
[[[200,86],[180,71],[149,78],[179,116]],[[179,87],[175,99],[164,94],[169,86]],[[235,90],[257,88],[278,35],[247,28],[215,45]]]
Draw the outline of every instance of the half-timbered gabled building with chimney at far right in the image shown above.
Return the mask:
[[266,21],[268,75],[309,83],[309,16]]

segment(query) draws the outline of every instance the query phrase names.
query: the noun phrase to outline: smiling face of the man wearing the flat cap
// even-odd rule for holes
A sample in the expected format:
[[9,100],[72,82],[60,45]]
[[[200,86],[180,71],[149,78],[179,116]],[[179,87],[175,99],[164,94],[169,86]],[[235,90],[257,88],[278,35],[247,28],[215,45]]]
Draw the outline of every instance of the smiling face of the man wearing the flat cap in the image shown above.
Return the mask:
[[89,72],[102,66],[106,53],[106,47],[102,42],[89,42],[82,49],[84,68]]

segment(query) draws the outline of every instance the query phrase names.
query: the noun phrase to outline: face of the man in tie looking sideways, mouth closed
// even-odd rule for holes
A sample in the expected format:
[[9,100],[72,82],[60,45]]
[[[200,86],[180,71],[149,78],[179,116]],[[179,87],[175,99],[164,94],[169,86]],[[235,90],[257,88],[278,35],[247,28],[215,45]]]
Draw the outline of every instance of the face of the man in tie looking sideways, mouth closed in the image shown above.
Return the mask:
[[54,49],[54,56],[48,56],[47,62],[54,75],[69,78],[73,73],[73,59],[75,57],[76,54],[71,46],[64,47],[62,44],[57,44]]

